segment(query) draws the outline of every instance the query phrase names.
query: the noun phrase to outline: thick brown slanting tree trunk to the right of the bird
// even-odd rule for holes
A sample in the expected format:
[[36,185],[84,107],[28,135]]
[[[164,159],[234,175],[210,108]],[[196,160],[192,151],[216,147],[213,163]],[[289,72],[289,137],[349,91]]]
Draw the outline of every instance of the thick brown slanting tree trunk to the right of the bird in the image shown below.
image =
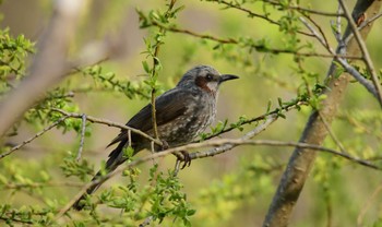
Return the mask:
[[[361,15],[371,17],[375,15],[381,8],[381,0],[358,0],[353,11],[355,21]],[[366,26],[361,31],[363,38],[368,35],[371,25]],[[345,32],[345,37],[351,34],[349,26]],[[359,47],[354,39],[347,46],[347,53],[355,56],[359,52]],[[332,75],[336,73],[331,73]],[[329,89],[324,91],[327,98],[322,103],[320,112],[313,111],[310,116],[305,131],[300,138],[300,142],[321,145],[327,135],[326,126],[330,126],[337,112],[341,100],[344,97],[345,89],[349,83],[350,75],[343,73],[339,77],[329,83]],[[325,120],[323,122],[321,117]],[[278,189],[273,198],[272,204],[263,223],[264,227],[287,226],[290,219],[293,208],[295,207],[303,184],[309,176],[317,157],[317,152],[312,150],[296,148],[291,155],[289,163],[284,171]]]

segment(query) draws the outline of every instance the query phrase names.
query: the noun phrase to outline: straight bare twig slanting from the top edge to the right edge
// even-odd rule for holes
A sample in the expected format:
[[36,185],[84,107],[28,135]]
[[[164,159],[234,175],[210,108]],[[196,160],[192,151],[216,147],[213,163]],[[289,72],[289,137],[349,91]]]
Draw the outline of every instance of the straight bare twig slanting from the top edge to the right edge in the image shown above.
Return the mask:
[[348,23],[349,23],[349,27],[351,28],[353,34],[355,35],[355,38],[356,38],[356,40],[359,45],[359,48],[362,52],[365,63],[370,72],[371,81],[372,81],[374,88],[375,88],[377,99],[379,100],[379,103],[382,107],[382,88],[381,88],[380,82],[378,80],[377,71],[375,71],[375,68],[374,68],[372,60],[370,58],[368,48],[365,44],[363,38],[361,37],[361,34],[359,33],[359,31],[357,28],[356,23],[353,20],[350,11],[347,9],[346,4],[344,3],[344,0],[339,0],[339,3],[344,10],[344,13],[346,15]]

